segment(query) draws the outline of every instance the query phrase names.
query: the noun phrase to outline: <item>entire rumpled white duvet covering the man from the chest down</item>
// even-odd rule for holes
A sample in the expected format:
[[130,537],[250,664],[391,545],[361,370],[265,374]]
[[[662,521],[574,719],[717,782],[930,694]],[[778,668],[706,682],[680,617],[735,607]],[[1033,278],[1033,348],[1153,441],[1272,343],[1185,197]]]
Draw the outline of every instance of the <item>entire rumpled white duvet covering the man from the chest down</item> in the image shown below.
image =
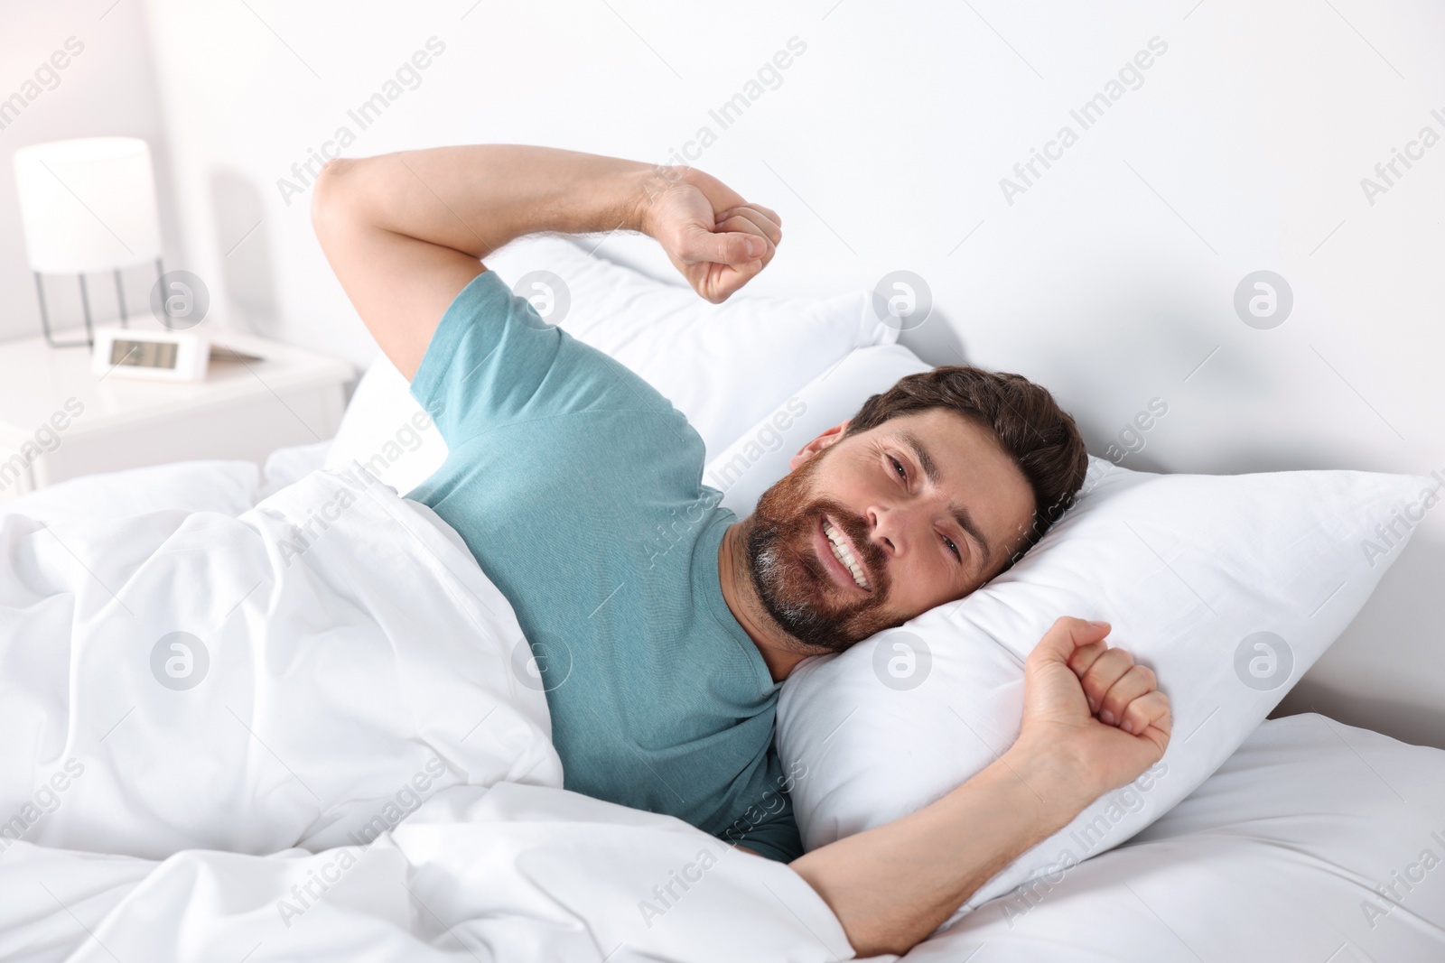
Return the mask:
[[366,474],[38,514],[0,517],[0,959],[848,953],[786,866],[564,791],[512,606]]

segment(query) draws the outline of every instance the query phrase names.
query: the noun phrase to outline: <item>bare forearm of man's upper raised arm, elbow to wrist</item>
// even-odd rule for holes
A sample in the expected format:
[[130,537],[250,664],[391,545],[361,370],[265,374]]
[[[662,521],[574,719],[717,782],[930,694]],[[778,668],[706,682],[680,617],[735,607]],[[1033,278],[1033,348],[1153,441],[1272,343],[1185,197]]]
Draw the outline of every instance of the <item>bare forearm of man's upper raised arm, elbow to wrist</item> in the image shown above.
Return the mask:
[[640,230],[650,173],[616,157],[477,144],[335,162],[324,180],[350,217],[483,258],[523,234]]

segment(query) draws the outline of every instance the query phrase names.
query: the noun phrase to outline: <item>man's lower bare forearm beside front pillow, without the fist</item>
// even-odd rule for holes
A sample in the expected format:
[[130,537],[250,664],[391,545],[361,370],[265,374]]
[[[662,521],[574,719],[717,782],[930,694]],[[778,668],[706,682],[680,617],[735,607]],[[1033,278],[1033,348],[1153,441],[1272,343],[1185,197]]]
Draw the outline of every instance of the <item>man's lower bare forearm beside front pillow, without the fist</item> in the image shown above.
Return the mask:
[[906,953],[1087,803],[1062,767],[1006,754],[936,803],[792,862],[860,956]]

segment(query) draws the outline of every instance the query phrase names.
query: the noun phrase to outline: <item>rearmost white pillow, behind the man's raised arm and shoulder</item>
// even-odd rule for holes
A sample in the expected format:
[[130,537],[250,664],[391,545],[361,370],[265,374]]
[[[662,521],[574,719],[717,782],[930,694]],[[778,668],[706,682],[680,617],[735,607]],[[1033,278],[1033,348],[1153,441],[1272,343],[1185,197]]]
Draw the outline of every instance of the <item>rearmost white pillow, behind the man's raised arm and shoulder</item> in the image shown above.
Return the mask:
[[[867,292],[828,299],[738,293],[709,305],[681,279],[655,282],[561,237],[522,238],[488,257],[487,267],[533,303],[545,303],[533,271],[561,279],[562,289],[543,279],[555,323],[657,388],[688,416],[709,453],[854,348],[899,335],[874,315]],[[327,466],[353,458],[403,494],[447,458],[447,445],[384,357],[357,384]]]

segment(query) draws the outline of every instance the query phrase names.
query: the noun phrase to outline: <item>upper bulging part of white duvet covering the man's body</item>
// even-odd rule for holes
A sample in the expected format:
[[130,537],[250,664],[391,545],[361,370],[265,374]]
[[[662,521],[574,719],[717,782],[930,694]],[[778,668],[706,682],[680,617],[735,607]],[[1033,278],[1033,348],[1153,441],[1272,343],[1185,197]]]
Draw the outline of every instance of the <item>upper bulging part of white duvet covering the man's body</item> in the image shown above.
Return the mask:
[[354,471],[240,518],[4,517],[0,846],[316,850],[561,785],[512,606],[422,511]]

